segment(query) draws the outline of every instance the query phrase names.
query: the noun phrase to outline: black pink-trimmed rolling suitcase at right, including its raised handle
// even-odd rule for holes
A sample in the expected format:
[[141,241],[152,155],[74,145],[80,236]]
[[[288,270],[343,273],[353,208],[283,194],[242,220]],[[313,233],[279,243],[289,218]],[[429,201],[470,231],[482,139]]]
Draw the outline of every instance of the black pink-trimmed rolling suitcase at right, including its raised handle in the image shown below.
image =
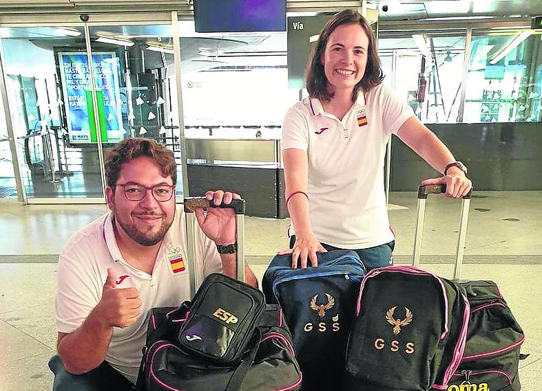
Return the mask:
[[[446,186],[419,186],[413,265],[419,264],[421,231],[424,226],[425,202],[429,194],[446,192]],[[453,278],[466,292],[470,317],[466,347],[457,370],[450,379],[448,390],[519,391],[519,360],[525,340],[521,326],[493,281],[460,280],[463,250],[466,241],[469,192],[461,203],[459,239]]]

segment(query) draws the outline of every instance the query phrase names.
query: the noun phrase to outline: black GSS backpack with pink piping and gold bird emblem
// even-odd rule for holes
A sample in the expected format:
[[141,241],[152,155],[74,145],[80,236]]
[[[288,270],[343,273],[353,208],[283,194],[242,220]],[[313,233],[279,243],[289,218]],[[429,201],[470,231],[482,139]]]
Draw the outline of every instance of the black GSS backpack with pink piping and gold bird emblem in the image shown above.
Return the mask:
[[446,390],[468,314],[455,282],[410,266],[373,269],[359,289],[343,390]]

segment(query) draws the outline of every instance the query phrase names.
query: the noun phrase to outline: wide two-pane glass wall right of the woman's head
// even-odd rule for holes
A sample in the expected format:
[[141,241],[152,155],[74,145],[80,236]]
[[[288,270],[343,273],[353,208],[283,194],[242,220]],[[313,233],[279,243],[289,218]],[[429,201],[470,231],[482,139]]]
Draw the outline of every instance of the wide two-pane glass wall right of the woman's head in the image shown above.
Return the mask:
[[[386,78],[418,118],[442,122],[540,122],[541,32],[474,29],[461,101],[466,30],[380,32]],[[463,118],[459,108],[464,104]]]

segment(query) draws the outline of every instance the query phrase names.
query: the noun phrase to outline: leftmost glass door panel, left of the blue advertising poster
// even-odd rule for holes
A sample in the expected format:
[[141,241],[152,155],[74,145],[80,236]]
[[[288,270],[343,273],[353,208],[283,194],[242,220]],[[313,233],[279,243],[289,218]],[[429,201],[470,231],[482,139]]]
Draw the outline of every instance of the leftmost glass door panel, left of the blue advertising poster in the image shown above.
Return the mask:
[[[76,102],[63,94],[64,53],[83,51],[82,26],[4,27],[1,49],[8,102],[21,171],[28,199],[103,197],[96,144],[83,146],[70,139],[72,129],[90,129]],[[84,69],[71,69],[72,80],[87,78]],[[83,170],[83,167],[85,168]]]

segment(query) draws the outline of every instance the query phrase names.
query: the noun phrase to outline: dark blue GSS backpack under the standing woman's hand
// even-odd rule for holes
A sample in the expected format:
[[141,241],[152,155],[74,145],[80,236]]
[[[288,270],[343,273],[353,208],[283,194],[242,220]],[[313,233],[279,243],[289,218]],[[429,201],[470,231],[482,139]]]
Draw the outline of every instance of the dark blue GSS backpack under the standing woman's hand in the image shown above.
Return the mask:
[[354,303],[365,268],[355,252],[317,253],[318,267],[292,269],[275,256],[262,280],[267,302],[278,302],[292,333],[303,390],[340,390]]

